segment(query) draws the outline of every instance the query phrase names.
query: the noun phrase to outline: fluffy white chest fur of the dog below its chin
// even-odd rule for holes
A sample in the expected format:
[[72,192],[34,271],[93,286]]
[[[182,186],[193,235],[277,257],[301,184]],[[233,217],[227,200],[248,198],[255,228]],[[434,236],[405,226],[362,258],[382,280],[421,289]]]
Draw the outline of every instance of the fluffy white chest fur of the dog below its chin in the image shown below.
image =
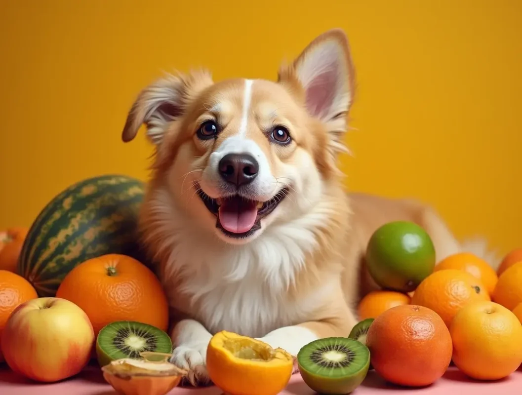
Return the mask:
[[[172,276],[184,278],[177,292],[194,305],[188,310],[208,331],[229,330],[250,337],[263,337],[282,326],[302,322],[321,303],[325,284],[299,300],[289,300],[288,289],[304,268],[305,254],[316,246],[307,224],[320,220],[275,225],[258,240],[243,246],[217,249],[179,233],[171,257]],[[308,222],[308,223],[306,223]],[[183,240],[181,240],[183,238]],[[197,240],[197,241],[196,241]],[[175,263],[174,263],[175,262]],[[175,295],[170,297],[174,307]]]

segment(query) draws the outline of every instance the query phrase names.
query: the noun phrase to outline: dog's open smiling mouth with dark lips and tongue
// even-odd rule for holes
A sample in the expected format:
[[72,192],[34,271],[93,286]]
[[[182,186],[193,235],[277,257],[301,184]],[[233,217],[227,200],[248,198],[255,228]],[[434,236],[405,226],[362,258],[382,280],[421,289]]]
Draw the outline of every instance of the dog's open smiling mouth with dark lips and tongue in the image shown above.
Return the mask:
[[288,189],[283,188],[274,198],[260,202],[240,195],[213,199],[200,187],[197,190],[207,209],[216,216],[216,227],[233,238],[248,237],[261,229],[261,219],[274,211],[288,194]]

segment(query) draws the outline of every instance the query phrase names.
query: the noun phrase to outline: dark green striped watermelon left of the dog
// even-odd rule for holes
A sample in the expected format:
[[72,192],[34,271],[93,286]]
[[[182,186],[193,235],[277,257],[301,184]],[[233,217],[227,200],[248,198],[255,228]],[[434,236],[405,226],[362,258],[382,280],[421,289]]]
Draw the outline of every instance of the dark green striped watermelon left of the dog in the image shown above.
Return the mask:
[[40,297],[55,296],[67,273],[87,259],[124,254],[144,262],[137,240],[144,193],[143,182],[125,175],[102,175],[68,187],[31,225],[18,274]]

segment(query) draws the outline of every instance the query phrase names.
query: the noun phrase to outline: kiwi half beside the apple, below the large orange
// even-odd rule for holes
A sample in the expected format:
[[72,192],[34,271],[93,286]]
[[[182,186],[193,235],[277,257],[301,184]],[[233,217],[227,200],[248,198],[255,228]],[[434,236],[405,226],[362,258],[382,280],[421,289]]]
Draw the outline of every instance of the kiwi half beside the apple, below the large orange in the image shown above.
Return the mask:
[[171,353],[172,341],[161,329],[136,321],[112,322],[101,329],[96,339],[100,366],[122,358],[141,358],[144,351]]

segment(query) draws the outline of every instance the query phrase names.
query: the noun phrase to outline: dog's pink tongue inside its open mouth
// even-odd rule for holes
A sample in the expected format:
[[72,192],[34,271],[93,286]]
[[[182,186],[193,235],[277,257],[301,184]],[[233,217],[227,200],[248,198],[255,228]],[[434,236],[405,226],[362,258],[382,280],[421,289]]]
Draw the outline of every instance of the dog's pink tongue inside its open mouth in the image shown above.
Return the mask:
[[257,207],[255,201],[241,198],[224,199],[219,206],[219,222],[232,233],[244,233],[252,229],[256,222]]

